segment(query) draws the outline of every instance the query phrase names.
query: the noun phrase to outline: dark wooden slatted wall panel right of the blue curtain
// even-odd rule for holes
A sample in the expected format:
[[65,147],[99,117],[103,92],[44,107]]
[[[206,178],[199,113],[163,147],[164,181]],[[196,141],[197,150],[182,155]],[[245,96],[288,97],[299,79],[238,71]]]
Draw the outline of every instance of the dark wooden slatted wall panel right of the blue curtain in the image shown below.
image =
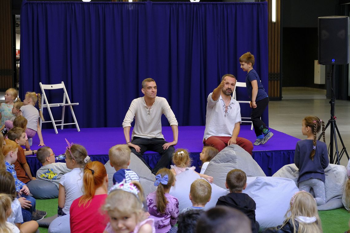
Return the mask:
[[271,20],[272,0],[268,0],[268,96],[281,100],[281,0],[276,0],[276,22]]

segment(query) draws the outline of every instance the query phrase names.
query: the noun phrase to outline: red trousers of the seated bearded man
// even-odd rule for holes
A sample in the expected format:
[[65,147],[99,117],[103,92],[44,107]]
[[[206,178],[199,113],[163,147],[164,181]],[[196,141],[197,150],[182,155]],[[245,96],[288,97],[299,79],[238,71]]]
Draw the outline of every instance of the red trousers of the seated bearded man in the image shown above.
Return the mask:
[[[204,146],[215,147],[218,151],[222,151],[226,146],[231,137],[220,137],[220,136],[211,136],[207,140],[203,140]],[[242,147],[246,152],[252,155],[253,143],[245,138],[236,138],[236,144]]]

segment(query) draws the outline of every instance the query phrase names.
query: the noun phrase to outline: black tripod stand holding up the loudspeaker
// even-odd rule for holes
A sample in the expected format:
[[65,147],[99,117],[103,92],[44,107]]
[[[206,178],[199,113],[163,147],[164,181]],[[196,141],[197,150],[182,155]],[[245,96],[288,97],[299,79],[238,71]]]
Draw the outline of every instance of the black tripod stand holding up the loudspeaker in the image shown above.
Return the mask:
[[[332,80],[331,80],[331,99],[329,101],[330,103],[330,119],[328,120],[327,125],[325,126],[325,129],[328,128],[328,126],[330,126],[330,153],[329,153],[329,161],[331,163],[334,163],[334,156],[333,156],[333,149],[334,149],[334,144],[335,144],[335,156],[336,156],[336,164],[340,165],[340,159],[342,158],[343,154],[346,154],[346,157],[348,157],[349,160],[349,154],[346,151],[346,147],[344,145],[342,136],[339,133],[338,127],[337,127],[337,123],[336,123],[336,119],[337,117],[334,116],[335,114],[335,95],[334,95],[334,87],[335,87],[335,65],[332,65]],[[338,142],[337,142],[337,134],[338,137],[340,139],[340,142],[342,143],[342,150],[339,153],[338,150]],[[320,140],[321,135],[318,137],[318,140]]]

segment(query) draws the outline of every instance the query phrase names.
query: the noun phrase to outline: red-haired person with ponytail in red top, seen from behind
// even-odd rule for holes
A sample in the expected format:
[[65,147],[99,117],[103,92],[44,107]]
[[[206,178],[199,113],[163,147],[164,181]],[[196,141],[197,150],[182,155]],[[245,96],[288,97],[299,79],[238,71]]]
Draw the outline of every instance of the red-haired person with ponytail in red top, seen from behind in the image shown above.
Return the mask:
[[83,176],[83,196],[70,206],[71,232],[103,232],[108,215],[100,211],[107,198],[108,176],[98,161],[87,163]]

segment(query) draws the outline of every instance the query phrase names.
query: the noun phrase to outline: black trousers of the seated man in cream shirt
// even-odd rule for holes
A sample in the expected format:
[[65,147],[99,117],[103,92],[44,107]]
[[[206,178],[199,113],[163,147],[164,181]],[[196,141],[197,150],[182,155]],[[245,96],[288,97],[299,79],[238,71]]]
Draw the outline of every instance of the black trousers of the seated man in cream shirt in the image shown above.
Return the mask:
[[[156,174],[158,170],[163,167],[169,167],[175,149],[174,146],[169,146],[167,150],[163,150],[163,145],[168,143],[164,139],[134,137],[131,143],[140,147],[140,152],[136,152],[134,148],[130,147],[131,152],[137,155],[139,159],[141,159],[146,164],[146,166],[152,171],[153,174]],[[142,158],[142,155],[145,153],[145,151],[154,151],[162,156],[153,169],[149,167],[144,158]]]

